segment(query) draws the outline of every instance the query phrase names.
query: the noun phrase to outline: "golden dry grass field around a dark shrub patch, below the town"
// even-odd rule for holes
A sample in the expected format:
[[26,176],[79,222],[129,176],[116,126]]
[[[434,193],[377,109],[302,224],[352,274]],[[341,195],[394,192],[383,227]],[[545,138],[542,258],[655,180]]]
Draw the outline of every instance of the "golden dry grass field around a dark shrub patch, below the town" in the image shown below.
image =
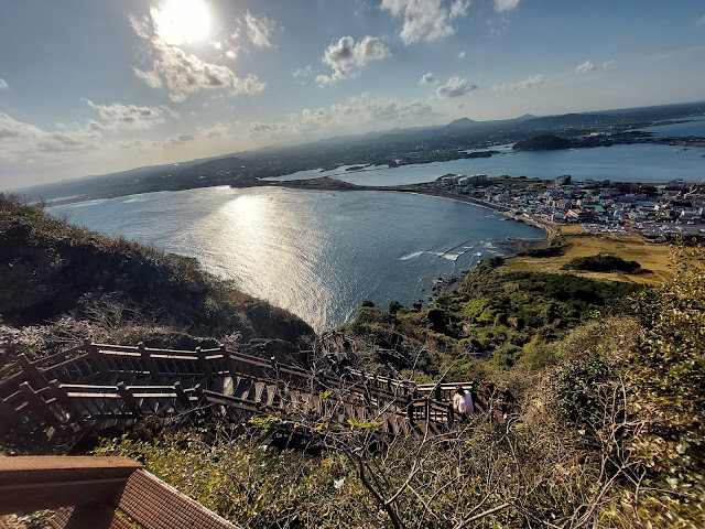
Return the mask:
[[[567,244],[565,255],[549,258],[513,257],[507,260],[510,271],[532,271],[552,273],[572,273],[590,279],[608,279],[640,284],[663,283],[673,274],[670,267],[670,247],[644,242],[636,235],[586,234],[582,226],[561,227]],[[638,273],[625,272],[579,272],[563,270],[563,266],[573,258],[608,253],[641,264]]]

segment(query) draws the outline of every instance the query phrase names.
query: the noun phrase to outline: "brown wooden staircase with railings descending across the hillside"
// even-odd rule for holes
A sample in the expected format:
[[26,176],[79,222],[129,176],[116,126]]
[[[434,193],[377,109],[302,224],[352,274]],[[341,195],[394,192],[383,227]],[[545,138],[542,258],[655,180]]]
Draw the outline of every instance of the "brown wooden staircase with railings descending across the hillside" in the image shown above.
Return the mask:
[[[55,431],[127,427],[145,415],[170,419],[199,407],[231,420],[267,413],[285,423],[302,409],[325,413],[319,393],[326,390],[347,396],[350,407],[340,413],[343,421],[382,417],[383,436],[423,433],[421,424],[440,432],[453,423],[445,396],[451,385],[416,386],[356,370],[336,378],[225,346],[173,350],[86,341],[36,361],[20,355],[10,367],[0,380],[3,421],[44,423]],[[231,395],[213,388],[226,377]]]

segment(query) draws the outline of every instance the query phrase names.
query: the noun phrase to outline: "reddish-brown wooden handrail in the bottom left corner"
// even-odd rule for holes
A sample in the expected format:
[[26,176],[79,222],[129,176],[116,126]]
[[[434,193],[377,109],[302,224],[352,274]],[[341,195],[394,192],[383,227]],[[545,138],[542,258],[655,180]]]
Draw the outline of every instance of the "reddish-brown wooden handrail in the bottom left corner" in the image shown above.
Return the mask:
[[0,516],[43,509],[57,529],[236,529],[127,457],[0,457]]

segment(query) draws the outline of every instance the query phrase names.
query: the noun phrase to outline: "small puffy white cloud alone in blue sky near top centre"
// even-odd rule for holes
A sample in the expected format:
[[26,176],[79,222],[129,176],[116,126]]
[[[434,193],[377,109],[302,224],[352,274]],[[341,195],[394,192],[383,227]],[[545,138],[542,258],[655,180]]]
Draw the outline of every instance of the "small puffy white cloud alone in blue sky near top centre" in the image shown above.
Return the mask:
[[389,50],[381,39],[367,35],[356,43],[351,36],[344,36],[330,44],[323,56],[323,62],[333,68],[333,74],[319,75],[316,82],[333,84],[354,77],[370,61],[381,61],[388,55]]

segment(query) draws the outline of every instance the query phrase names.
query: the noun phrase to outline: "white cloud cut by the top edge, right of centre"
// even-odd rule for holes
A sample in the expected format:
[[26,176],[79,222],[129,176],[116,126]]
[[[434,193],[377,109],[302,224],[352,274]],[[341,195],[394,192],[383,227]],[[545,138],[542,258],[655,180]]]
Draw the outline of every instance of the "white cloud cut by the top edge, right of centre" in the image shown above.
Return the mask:
[[401,40],[404,44],[435,41],[455,33],[451,20],[467,14],[469,1],[454,0],[448,8],[442,0],[382,0],[381,9],[392,17],[403,17]]

